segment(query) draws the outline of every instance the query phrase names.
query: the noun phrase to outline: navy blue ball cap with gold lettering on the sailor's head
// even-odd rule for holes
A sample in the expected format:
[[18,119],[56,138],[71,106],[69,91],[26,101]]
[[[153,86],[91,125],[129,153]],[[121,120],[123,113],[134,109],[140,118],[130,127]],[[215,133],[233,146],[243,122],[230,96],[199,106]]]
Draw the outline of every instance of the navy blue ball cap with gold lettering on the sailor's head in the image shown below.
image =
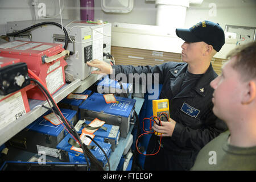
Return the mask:
[[225,35],[218,23],[204,20],[189,29],[176,28],[176,35],[185,42],[205,42],[218,52],[225,43]]

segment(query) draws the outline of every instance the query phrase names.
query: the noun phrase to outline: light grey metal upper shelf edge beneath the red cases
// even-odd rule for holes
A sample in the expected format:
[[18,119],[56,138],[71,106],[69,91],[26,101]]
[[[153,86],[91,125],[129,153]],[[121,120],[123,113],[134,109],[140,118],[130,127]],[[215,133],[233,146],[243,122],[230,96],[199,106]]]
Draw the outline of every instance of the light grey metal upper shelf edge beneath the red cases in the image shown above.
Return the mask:
[[[65,84],[60,90],[53,94],[53,99],[56,103],[63,100],[63,98],[68,96],[69,93],[73,92],[73,90],[80,85],[80,79],[71,82],[71,84]],[[14,137],[14,135],[19,133],[24,127],[30,125],[30,123],[35,121],[42,114],[46,113],[47,109],[42,107],[42,105],[49,107],[47,101],[28,100],[28,103],[30,104],[30,111],[27,114],[24,114],[19,119],[10,122],[9,125],[0,129],[0,146],[10,138]]]

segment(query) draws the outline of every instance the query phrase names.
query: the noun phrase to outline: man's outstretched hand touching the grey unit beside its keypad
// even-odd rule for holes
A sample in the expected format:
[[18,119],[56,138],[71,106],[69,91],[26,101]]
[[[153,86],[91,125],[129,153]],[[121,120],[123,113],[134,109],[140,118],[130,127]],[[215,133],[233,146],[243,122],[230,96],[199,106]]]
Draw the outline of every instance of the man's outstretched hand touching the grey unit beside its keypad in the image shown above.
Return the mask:
[[105,73],[107,75],[110,75],[113,72],[111,65],[106,63],[105,61],[100,61],[100,60],[94,59],[90,62],[87,62],[87,65],[89,67],[95,67],[95,68],[100,69],[99,71],[92,71],[93,74]]

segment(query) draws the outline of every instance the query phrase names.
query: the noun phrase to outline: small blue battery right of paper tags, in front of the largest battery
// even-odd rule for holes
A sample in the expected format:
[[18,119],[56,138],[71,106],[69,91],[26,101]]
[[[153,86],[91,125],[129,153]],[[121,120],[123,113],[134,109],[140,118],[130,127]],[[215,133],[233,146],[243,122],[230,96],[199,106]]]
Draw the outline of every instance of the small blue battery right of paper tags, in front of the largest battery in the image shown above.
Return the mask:
[[[77,133],[79,134],[82,133],[82,129],[84,129],[84,126],[82,126],[83,123],[85,123],[86,125],[89,125],[91,122],[92,121],[87,121],[87,120],[80,120],[79,122],[77,122],[75,126],[75,129],[79,130],[77,131]],[[120,137],[119,126],[108,125],[106,123],[102,126],[104,127],[104,129],[100,128],[93,133],[95,135],[94,140],[99,140],[101,142],[112,144],[111,149],[112,151],[114,151]]]

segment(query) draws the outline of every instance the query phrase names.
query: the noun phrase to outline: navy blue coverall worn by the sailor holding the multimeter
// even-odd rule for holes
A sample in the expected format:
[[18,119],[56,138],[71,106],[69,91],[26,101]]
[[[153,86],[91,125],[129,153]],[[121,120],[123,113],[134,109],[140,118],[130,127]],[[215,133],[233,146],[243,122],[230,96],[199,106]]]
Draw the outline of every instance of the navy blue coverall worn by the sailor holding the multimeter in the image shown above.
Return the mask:
[[[113,65],[114,73],[158,73],[159,84],[163,84],[159,98],[168,98],[170,118],[176,121],[172,137],[162,137],[158,154],[146,156],[146,170],[189,170],[197,153],[210,140],[227,130],[223,121],[213,114],[210,81],[217,77],[212,64],[207,72],[191,87],[180,90],[187,63],[168,62],[160,65],[138,66]],[[152,79],[154,80],[154,79]],[[155,153],[159,148],[159,137],[152,135],[147,154]]]

